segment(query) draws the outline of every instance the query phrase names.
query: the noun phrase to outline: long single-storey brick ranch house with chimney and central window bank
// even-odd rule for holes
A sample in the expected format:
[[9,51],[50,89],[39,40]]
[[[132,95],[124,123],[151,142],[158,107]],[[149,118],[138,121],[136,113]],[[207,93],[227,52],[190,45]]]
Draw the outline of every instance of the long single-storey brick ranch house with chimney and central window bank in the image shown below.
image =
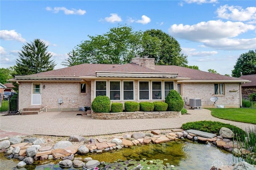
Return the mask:
[[108,96],[111,102],[164,101],[172,89],[187,98],[187,104],[190,98],[200,98],[202,108],[213,107],[210,97],[218,96],[217,104],[239,108],[241,84],[250,82],[180,66],[155,65],[154,58],[138,56],[131,64],[80,64],[15,76],[10,81],[19,84],[19,110],[41,106],[48,111],[91,106],[98,95]]

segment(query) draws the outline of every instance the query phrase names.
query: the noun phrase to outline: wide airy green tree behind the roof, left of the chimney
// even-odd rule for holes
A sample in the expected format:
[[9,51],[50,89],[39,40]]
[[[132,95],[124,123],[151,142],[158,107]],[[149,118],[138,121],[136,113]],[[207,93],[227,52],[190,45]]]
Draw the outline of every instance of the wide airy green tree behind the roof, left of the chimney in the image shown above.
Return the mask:
[[140,50],[142,32],[118,26],[106,34],[88,37],[90,40],[77,47],[82,63],[125,64]]

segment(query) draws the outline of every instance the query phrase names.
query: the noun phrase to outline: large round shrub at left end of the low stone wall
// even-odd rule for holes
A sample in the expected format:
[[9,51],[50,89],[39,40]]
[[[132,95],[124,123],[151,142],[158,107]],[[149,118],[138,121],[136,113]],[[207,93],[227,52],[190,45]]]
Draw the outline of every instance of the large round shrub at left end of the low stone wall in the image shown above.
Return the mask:
[[96,113],[110,112],[110,99],[108,96],[97,96],[92,101],[92,110]]

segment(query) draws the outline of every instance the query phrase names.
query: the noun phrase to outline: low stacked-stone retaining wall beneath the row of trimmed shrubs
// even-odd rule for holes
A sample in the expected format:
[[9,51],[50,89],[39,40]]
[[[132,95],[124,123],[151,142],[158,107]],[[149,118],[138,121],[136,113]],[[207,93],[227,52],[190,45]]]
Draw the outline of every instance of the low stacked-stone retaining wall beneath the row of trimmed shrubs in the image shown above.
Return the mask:
[[148,119],[148,118],[177,118],[181,112],[118,112],[118,113],[95,113],[92,112],[94,119]]

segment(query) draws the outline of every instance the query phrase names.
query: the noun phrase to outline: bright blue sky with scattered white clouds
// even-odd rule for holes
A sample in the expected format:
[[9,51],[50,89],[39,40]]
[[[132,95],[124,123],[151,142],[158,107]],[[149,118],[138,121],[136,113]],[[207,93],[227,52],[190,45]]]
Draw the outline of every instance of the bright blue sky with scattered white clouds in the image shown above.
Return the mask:
[[240,54],[256,49],[256,1],[0,1],[0,68],[14,66],[18,52],[39,38],[48,45],[54,69],[88,35],[118,24],[160,29],[174,37],[188,65],[231,74]]

